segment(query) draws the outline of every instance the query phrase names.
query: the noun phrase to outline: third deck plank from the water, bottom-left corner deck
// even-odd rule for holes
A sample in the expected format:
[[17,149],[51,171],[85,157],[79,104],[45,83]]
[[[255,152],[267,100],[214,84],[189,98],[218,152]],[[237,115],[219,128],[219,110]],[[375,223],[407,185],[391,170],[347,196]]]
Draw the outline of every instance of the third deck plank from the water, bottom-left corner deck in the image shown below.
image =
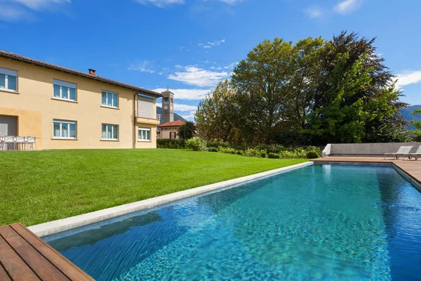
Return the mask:
[[[1,226],[6,228],[8,226]],[[12,247],[0,236],[0,262],[13,281],[39,281],[31,268],[12,249]]]

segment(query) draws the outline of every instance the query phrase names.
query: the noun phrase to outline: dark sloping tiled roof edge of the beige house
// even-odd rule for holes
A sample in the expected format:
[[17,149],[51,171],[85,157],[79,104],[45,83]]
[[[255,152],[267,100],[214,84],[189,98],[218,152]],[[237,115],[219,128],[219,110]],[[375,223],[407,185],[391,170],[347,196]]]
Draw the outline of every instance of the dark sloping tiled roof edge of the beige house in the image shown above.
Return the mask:
[[113,85],[116,85],[116,86],[121,86],[123,88],[132,89],[132,90],[135,90],[135,91],[140,91],[142,93],[149,93],[149,94],[152,94],[152,95],[157,96],[157,97],[162,97],[161,93],[157,93],[157,92],[150,91],[150,90],[147,90],[147,89],[139,88],[137,86],[132,86],[132,85],[129,85],[129,84],[124,84],[124,83],[121,83],[119,81],[114,81],[114,80],[107,79],[107,78],[104,78],[104,77],[99,77],[95,74],[88,74],[88,73],[77,71],[77,70],[71,70],[71,69],[66,68],[66,67],[53,65],[51,63],[44,63],[41,60],[34,60],[33,58],[27,58],[27,57],[24,57],[22,55],[16,55],[15,53],[9,53],[9,52],[0,50],[0,57],[1,58],[10,58],[11,60],[18,60],[22,63],[29,63],[31,65],[36,65],[36,66],[39,66],[39,67],[48,68],[50,70],[65,72],[67,74],[73,74],[73,75],[77,75],[77,76],[80,76],[80,77],[93,79],[93,80],[96,80],[96,81],[102,81],[102,82],[113,84]]

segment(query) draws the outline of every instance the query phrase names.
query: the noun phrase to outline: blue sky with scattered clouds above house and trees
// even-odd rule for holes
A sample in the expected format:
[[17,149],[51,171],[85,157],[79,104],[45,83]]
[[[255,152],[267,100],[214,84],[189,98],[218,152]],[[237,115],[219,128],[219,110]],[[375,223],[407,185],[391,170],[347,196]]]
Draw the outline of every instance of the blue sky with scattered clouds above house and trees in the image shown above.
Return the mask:
[[377,53],[421,104],[418,0],[0,0],[0,49],[196,105],[264,39],[330,39],[342,30],[377,37]]

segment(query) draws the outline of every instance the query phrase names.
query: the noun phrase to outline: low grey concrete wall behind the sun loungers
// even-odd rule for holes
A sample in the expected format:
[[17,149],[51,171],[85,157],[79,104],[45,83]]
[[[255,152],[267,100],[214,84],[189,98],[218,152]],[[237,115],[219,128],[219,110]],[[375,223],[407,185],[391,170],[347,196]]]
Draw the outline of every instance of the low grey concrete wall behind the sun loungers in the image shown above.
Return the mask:
[[[386,152],[396,152],[401,146],[413,146],[415,152],[421,143],[332,143],[323,150],[323,157],[328,156],[366,156],[383,157]],[[330,150],[330,153],[328,152]]]

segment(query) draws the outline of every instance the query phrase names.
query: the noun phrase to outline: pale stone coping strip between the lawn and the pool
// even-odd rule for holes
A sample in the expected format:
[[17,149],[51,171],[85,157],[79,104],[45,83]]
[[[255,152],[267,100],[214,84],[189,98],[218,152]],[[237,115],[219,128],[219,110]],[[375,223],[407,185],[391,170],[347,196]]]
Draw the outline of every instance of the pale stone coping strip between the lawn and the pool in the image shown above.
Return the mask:
[[159,205],[175,202],[178,200],[185,199],[187,197],[193,197],[196,195],[201,195],[202,193],[219,190],[222,188],[227,188],[231,185],[237,185],[239,183],[246,183],[248,181],[253,181],[258,178],[263,178],[265,176],[272,176],[274,174],[280,174],[285,171],[290,171],[293,169],[299,169],[304,166],[313,165],[314,162],[304,162],[300,164],[295,164],[291,166],[286,166],[279,169],[274,169],[270,171],[264,171],[262,173],[253,174],[250,176],[243,176],[241,178],[233,178],[228,181],[222,181],[220,183],[212,183],[210,185],[203,185],[198,188],[191,188],[188,190],[182,190],[174,192],[168,195],[161,195],[159,197],[149,198],[147,200],[142,200],[138,202],[123,204],[116,207],[111,207],[107,209],[102,209],[99,211],[93,211],[91,213],[81,214],[78,216],[71,216],[69,218],[62,218],[57,221],[50,221],[47,223],[41,223],[35,226],[29,226],[28,229],[39,237],[44,237],[48,235],[53,235],[57,233],[62,233],[67,230],[72,230],[74,228],[79,228],[81,226],[88,226],[93,223],[98,223],[100,221],[105,221],[110,218],[116,218],[119,216],[124,216],[126,214],[131,214],[136,211],[142,211],[145,209],[150,209]]

